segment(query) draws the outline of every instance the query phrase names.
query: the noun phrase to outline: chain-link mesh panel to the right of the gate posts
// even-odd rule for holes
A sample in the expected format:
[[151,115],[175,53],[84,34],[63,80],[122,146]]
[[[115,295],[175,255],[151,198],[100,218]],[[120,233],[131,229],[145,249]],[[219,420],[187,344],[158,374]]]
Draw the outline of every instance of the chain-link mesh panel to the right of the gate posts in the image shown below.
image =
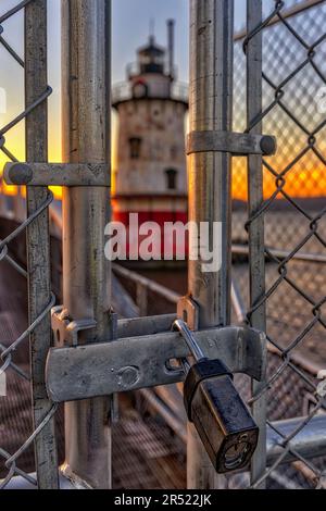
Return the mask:
[[[249,311],[249,321],[266,306],[273,352],[267,384],[251,403],[267,396],[268,426],[275,431],[272,421],[304,415],[290,435],[277,432],[283,451],[254,487],[267,481],[269,487],[319,488],[326,483],[326,460],[304,459],[292,446],[311,420],[325,413],[326,404],[323,383],[316,379],[318,369],[326,366],[326,4],[288,17],[290,3],[275,1],[262,25],[235,45],[235,127],[250,130],[263,121],[263,133],[277,137],[278,150],[264,159],[264,203],[247,222],[247,162],[235,160],[234,236],[247,244],[248,227],[264,217],[267,290]],[[247,127],[246,51],[261,33],[263,113]],[[248,299],[243,266],[236,265],[234,273]],[[288,452],[297,462],[283,465]]]

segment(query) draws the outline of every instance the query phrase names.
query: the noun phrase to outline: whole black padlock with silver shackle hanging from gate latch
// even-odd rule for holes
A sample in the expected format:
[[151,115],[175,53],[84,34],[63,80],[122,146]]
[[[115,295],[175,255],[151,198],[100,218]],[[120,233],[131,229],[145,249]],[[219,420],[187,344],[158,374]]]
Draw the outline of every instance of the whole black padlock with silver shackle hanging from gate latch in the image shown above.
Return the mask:
[[243,470],[259,439],[259,427],[237,391],[233,374],[221,360],[209,360],[183,321],[174,323],[196,361],[183,361],[187,373],[184,387],[188,419],[218,474]]

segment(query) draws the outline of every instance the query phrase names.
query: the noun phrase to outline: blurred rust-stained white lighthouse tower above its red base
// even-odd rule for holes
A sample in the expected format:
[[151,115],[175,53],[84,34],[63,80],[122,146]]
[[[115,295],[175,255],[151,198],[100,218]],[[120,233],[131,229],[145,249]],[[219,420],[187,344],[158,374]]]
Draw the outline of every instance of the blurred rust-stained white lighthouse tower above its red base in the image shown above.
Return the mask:
[[[113,169],[113,217],[139,222],[187,223],[185,122],[188,87],[176,82],[174,21],[167,22],[168,48],[154,36],[127,66],[127,79],[113,88],[117,113]],[[163,244],[162,244],[163,250]]]

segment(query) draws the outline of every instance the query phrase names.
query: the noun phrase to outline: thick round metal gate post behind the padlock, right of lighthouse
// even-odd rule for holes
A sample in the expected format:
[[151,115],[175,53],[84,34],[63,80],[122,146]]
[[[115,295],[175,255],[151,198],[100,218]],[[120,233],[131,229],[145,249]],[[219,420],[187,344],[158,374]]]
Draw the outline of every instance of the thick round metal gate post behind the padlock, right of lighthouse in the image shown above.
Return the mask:
[[[190,1],[190,130],[231,130],[234,1]],[[200,328],[230,322],[231,165],[230,155],[191,154],[189,220],[199,226],[222,223],[222,267],[203,273],[203,261],[189,262],[189,292],[200,308]],[[201,246],[202,240],[199,240]],[[188,439],[188,487],[221,485],[192,426]],[[223,479],[222,479],[223,481]]]

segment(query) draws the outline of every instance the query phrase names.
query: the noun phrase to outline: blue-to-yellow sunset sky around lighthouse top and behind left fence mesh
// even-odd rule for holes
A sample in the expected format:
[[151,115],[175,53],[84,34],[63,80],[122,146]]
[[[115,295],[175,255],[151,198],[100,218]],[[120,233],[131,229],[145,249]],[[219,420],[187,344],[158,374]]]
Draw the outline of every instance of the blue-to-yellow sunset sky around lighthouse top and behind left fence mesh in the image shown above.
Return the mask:
[[[298,3],[290,0],[288,3]],[[0,0],[0,15],[16,5],[17,0]],[[189,0],[113,0],[113,84],[125,79],[126,65],[136,59],[136,49],[148,38],[151,21],[158,42],[166,46],[166,20],[176,20],[176,64],[178,79],[188,82],[189,64]],[[236,28],[246,21],[244,0],[236,0]],[[273,0],[264,0],[265,12],[269,12]],[[49,84],[53,95],[49,100],[49,158],[61,161],[61,108],[60,108],[60,0],[49,0]],[[23,13],[3,24],[3,37],[23,57]],[[7,113],[0,111],[0,126],[5,125],[24,110],[23,70],[0,46],[0,88],[7,92]],[[114,133],[115,120],[113,120]],[[7,146],[14,155],[24,157],[24,125],[7,135]],[[0,169],[7,158],[0,152]],[[246,186],[244,186],[246,188]]]

